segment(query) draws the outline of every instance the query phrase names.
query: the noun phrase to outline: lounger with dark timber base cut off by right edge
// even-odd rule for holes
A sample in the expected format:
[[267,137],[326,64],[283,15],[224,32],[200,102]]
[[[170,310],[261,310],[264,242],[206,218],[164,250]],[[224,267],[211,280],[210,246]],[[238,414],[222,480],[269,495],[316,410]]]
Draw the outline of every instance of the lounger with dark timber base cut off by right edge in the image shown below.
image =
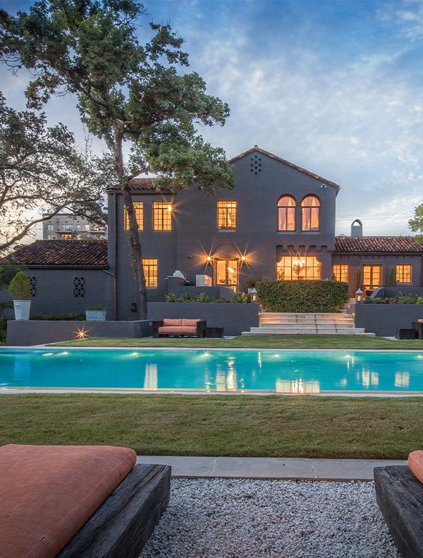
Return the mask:
[[423,451],[408,465],[374,468],[376,500],[401,556],[423,557]]

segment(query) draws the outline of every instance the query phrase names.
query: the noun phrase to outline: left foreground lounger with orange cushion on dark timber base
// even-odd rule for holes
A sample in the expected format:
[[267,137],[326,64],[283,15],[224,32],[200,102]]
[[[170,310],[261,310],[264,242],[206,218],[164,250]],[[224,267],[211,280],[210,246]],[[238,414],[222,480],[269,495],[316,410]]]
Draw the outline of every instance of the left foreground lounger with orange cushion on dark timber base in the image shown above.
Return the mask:
[[122,447],[0,447],[0,556],[139,556],[168,504],[171,468],[135,463]]

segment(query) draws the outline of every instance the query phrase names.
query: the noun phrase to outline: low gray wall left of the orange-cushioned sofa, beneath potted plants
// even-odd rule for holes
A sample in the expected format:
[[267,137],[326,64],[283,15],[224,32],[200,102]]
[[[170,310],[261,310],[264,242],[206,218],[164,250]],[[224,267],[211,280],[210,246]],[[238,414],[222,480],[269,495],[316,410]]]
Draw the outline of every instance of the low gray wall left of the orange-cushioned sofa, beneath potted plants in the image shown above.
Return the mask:
[[77,322],[48,320],[8,320],[8,345],[41,345],[76,339],[84,329],[90,337],[147,337],[151,328],[147,320],[134,322]]

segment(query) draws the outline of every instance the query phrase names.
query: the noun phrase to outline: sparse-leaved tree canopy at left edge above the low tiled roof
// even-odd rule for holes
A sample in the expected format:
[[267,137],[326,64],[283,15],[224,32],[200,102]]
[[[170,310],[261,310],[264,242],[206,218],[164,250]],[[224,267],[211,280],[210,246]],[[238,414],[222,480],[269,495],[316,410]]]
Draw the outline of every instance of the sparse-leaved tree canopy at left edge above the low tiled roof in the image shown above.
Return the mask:
[[78,150],[63,124],[11,109],[0,93],[0,252],[59,212],[101,224],[107,181],[104,162]]

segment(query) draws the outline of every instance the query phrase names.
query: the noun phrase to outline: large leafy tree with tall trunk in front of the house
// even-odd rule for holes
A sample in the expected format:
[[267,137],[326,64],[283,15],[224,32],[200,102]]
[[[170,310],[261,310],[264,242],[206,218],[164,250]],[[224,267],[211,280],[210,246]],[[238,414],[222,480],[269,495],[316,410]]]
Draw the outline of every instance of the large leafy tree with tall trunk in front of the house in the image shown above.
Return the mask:
[[[169,25],[142,28],[137,0],[38,0],[28,13],[0,11],[1,55],[29,68],[30,107],[51,95],[74,94],[81,119],[105,140],[129,218],[140,319],[147,317],[145,276],[130,178],[149,169],[158,188],[231,188],[234,171],[221,148],[204,142],[199,126],[222,125],[226,104],[186,73],[188,54]],[[144,44],[137,32],[144,34]],[[123,157],[124,142],[130,157]]]

